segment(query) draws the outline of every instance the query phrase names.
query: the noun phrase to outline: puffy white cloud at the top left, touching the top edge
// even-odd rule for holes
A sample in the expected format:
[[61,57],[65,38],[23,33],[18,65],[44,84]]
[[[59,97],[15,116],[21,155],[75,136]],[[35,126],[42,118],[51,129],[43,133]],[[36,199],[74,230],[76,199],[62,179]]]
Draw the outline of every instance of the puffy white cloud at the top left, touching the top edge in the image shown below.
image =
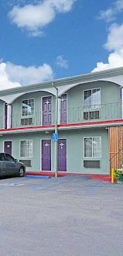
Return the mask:
[[53,22],[57,13],[70,12],[77,0],[44,0],[37,4],[15,5],[9,11],[9,19],[32,36],[43,35],[43,28]]

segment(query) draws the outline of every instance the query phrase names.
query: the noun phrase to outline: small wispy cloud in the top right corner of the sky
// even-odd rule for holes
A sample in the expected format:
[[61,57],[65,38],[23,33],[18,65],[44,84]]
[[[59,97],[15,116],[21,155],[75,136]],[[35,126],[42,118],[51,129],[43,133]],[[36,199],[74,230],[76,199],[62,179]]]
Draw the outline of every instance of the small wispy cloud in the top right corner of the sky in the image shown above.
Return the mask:
[[111,7],[107,10],[99,12],[97,19],[104,19],[105,22],[111,22],[116,19],[116,16],[120,12],[123,12],[123,0],[117,0],[116,2],[113,2]]

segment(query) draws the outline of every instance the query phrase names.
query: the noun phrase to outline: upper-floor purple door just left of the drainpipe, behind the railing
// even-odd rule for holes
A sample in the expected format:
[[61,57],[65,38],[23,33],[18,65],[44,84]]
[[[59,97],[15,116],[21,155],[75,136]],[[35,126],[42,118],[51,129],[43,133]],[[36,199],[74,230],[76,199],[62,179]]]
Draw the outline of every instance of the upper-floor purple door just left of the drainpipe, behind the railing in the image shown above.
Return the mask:
[[52,124],[52,97],[43,97],[43,126]]

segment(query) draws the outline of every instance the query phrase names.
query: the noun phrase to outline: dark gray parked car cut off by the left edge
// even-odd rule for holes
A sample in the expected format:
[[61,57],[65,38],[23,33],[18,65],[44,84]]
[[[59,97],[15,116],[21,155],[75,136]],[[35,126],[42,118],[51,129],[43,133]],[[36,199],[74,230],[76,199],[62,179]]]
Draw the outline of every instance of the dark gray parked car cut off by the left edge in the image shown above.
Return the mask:
[[0,153],[0,176],[17,175],[23,177],[26,172],[25,164],[22,164],[10,154]]

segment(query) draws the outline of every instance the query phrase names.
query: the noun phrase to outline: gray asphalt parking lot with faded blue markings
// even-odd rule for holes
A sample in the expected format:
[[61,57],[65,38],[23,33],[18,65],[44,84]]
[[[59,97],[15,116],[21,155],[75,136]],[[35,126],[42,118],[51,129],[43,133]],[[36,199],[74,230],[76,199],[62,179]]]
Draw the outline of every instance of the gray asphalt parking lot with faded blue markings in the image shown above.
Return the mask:
[[0,180],[0,255],[122,256],[123,185],[86,176]]

